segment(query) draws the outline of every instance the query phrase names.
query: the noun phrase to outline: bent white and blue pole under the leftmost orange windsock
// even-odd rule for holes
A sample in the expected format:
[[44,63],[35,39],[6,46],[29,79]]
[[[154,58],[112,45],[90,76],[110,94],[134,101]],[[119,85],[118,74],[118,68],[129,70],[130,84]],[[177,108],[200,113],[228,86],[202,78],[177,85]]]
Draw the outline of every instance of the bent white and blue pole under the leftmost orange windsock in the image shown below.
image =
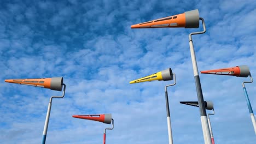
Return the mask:
[[65,85],[65,83],[62,83],[62,85],[64,86],[62,96],[60,96],[60,97],[59,96],[53,96],[53,97],[50,98],[50,102],[49,102],[49,105],[48,105],[48,110],[47,110],[47,114],[46,114],[46,118],[45,118],[45,123],[44,123],[42,144],[45,144],[45,141],[46,141],[49,117],[50,117],[50,112],[51,112],[51,101],[53,100],[53,98],[63,98],[65,96],[66,85]]

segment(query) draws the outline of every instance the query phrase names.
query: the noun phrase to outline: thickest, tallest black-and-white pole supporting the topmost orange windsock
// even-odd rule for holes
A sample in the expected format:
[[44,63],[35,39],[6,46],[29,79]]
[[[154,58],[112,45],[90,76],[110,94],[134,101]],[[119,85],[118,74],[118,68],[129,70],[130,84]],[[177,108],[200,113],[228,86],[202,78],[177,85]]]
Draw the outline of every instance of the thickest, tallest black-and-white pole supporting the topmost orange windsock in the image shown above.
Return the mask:
[[205,143],[208,144],[208,143],[212,143],[212,142],[211,142],[210,130],[208,127],[208,122],[207,122],[207,117],[206,117],[205,104],[203,102],[204,100],[203,100],[203,95],[202,95],[200,77],[198,74],[198,69],[197,69],[197,64],[196,64],[195,50],[194,50],[193,40],[191,37],[191,35],[193,35],[193,34],[202,34],[202,33],[206,32],[205,20],[203,20],[202,17],[200,17],[199,19],[202,21],[203,31],[202,32],[194,32],[194,33],[189,34],[189,47],[190,47],[191,59],[192,59],[193,70],[194,70],[194,78],[195,78],[197,99],[198,99],[198,103],[199,103],[199,111],[200,111],[200,116],[201,116],[203,138],[205,140]]

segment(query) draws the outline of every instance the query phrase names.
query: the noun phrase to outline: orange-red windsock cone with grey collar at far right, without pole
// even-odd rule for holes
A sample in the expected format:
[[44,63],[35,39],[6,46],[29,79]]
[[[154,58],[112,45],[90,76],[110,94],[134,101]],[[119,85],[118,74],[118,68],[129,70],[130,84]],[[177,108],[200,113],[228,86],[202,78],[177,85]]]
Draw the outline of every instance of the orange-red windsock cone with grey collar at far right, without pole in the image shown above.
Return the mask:
[[231,75],[237,77],[247,77],[250,74],[250,70],[247,65],[240,65],[236,67],[223,69],[204,70],[200,72],[201,74]]

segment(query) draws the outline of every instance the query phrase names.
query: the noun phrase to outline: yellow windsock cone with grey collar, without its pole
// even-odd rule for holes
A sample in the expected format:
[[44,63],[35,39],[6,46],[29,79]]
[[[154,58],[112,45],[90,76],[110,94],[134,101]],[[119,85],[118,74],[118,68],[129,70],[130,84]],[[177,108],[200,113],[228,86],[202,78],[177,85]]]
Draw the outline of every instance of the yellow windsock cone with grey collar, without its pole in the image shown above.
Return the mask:
[[139,82],[156,81],[156,80],[158,81],[173,80],[172,69],[168,68],[166,70],[159,71],[158,73],[154,73],[152,75],[130,81],[130,83],[139,83]]

